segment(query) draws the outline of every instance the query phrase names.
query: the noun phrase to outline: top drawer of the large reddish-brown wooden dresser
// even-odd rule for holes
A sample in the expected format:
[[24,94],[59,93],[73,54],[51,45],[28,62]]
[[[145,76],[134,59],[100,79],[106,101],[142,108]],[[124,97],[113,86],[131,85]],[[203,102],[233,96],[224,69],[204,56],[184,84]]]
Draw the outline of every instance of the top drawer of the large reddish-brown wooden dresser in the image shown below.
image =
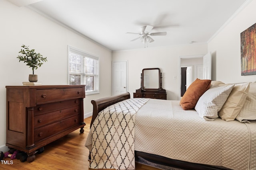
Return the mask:
[[36,90],[36,103],[47,103],[72,98],[82,98],[82,88],[56,88]]

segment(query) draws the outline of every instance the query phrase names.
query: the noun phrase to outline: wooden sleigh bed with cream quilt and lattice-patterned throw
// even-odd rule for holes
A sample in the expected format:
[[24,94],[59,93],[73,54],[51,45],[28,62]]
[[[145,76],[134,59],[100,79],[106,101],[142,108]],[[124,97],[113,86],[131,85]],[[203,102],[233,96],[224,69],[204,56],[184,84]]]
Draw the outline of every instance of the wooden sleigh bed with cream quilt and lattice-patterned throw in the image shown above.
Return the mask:
[[[248,106],[254,107],[256,101],[256,84],[250,84],[251,92],[248,85],[249,83],[244,88],[247,91],[242,93],[246,96],[243,96],[244,104],[240,106],[240,112],[244,107],[247,110]],[[211,84],[211,88],[200,96],[195,109],[188,110],[181,107],[180,101],[130,98],[128,92],[92,100],[91,131],[86,141],[86,147],[92,152],[91,168],[134,169],[132,162],[142,158],[165,167],[191,170],[256,169],[256,113],[252,110],[254,115],[250,115],[250,120],[240,121],[227,121],[216,114],[201,113],[200,102],[205,106],[205,100],[208,100],[203,96],[210,96],[210,91],[212,93],[214,90],[216,93],[217,88],[213,86],[215,85]],[[220,84],[216,86],[219,89]],[[218,93],[213,103],[225,100],[222,103],[226,104],[228,96],[233,95],[235,86],[236,91],[241,87],[236,84],[222,86],[222,92],[227,97],[223,99],[222,95],[220,98]],[[225,105],[210,108],[220,113],[222,106]],[[210,111],[212,112],[214,111]],[[115,117],[112,113],[115,113]],[[122,123],[124,124],[120,128]],[[104,125],[107,127],[103,127]],[[119,135],[101,134],[104,130],[112,131],[111,127],[116,127],[115,131],[119,131]],[[112,150],[108,148],[110,145]],[[114,156],[108,154],[109,152]],[[95,153],[101,156],[96,156]],[[107,161],[98,163],[101,159]]]

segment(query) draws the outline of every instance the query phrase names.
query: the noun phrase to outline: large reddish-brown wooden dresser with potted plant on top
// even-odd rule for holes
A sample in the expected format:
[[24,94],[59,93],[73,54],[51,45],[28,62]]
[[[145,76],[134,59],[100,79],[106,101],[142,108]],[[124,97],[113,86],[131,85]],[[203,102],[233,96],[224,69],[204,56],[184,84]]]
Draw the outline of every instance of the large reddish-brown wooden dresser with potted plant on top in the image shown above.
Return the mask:
[[27,161],[48,143],[84,132],[85,85],[6,86],[6,146],[24,151]]

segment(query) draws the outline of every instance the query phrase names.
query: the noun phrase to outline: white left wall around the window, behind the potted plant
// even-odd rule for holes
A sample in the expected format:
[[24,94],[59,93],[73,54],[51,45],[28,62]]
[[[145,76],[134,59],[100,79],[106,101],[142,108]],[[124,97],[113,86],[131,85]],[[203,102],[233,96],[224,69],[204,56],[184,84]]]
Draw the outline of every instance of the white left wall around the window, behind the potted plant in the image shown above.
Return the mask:
[[0,0],[0,16],[0,150],[6,149],[5,86],[20,86],[28,81],[28,74],[32,74],[32,69],[16,58],[22,44],[47,57],[48,62],[35,70],[38,82],[44,85],[68,83],[68,45],[100,58],[100,94],[86,96],[84,113],[92,111],[92,99],[111,95],[111,51],[29,8],[15,6],[6,0]]

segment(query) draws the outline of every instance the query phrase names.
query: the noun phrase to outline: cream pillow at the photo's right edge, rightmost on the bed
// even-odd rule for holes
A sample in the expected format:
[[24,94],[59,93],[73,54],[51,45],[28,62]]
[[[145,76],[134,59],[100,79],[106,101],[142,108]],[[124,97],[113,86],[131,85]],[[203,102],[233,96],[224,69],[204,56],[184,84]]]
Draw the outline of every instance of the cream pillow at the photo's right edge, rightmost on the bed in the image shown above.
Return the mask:
[[248,120],[256,120],[256,83],[250,84],[250,89],[245,99],[244,106],[236,116],[236,120],[240,122],[248,122]]

